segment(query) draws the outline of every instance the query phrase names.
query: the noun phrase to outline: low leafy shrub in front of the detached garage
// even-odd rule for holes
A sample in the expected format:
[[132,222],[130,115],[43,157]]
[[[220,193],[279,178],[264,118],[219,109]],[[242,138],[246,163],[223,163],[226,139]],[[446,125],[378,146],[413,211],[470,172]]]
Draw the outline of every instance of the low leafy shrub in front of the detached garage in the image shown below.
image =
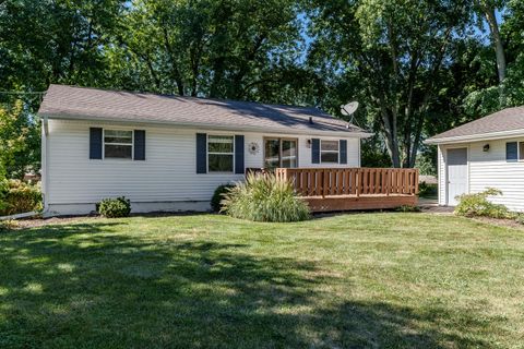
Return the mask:
[[488,196],[501,194],[502,192],[500,190],[489,188],[480,193],[460,195],[456,197],[458,205],[455,207],[455,215],[465,217],[514,218],[514,215],[510,213],[508,207],[488,201]]

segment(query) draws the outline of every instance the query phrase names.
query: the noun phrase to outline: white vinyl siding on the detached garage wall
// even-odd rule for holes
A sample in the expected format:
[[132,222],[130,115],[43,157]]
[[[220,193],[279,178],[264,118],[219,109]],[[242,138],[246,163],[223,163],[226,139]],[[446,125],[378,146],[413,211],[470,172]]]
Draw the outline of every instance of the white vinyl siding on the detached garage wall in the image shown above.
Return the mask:
[[[507,142],[524,142],[521,139],[483,141],[465,144],[439,146],[439,185],[440,204],[445,204],[445,152],[449,147],[468,147],[468,188],[471,193],[477,193],[486,188],[497,188],[502,191],[501,196],[490,200],[503,204],[512,210],[524,212],[524,163],[505,160]],[[489,151],[484,152],[484,146],[489,144]],[[442,156],[443,155],[443,156]]]

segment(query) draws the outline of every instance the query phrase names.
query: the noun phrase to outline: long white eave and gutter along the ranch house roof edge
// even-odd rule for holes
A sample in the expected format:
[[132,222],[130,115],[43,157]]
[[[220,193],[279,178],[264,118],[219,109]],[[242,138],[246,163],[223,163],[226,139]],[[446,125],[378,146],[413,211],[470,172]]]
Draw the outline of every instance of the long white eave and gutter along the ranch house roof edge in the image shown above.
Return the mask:
[[336,135],[344,137],[354,137],[354,139],[368,139],[373,135],[373,133],[365,131],[321,131],[321,130],[296,130],[296,129],[271,129],[271,128],[257,128],[257,127],[245,127],[245,125],[221,125],[214,123],[193,123],[193,122],[174,122],[174,121],[162,121],[162,120],[132,120],[132,119],[117,119],[117,118],[99,118],[99,117],[90,117],[90,116],[71,116],[71,115],[60,115],[52,112],[38,112],[40,117],[47,117],[49,119],[57,120],[76,120],[76,121],[96,121],[96,122],[111,122],[111,123],[134,123],[134,124],[154,124],[154,125],[172,125],[179,128],[188,129],[210,129],[210,130],[219,130],[219,131],[242,131],[242,132],[263,132],[266,133],[276,133],[276,134],[307,134],[307,135]]

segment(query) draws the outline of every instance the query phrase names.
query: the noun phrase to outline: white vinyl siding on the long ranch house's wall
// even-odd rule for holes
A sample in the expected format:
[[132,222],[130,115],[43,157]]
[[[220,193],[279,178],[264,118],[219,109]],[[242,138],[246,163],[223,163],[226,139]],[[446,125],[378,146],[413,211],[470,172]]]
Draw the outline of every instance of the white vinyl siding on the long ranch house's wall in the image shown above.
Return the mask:
[[[145,130],[146,160],[122,161],[106,158],[90,160],[90,127],[108,130]],[[243,179],[243,174],[196,174],[196,133],[245,135],[245,166],[263,166],[263,137],[291,137],[298,140],[300,167],[325,167],[311,164],[311,148],[307,135],[282,135],[250,132],[216,132],[129,124],[90,123],[86,121],[49,120],[48,184],[49,204],[94,204],[104,197],[126,195],[133,203],[209,202],[219,184]],[[329,137],[327,137],[329,139]],[[333,137],[333,140],[340,140]],[[259,152],[249,152],[250,143],[259,144]],[[359,140],[347,139],[347,165],[331,167],[358,167]],[[93,206],[94,207],[94,206]]]

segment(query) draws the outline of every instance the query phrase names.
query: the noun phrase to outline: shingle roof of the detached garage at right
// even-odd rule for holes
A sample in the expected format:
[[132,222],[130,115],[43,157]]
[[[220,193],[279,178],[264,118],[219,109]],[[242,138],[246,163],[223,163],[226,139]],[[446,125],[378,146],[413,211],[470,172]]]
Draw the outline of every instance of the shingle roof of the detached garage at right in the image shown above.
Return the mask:
[[428,139],[428,143],[432,141],[445,141],[445,139],[481,136],[497,132],[523,130],[524,133],[524,106],[507,108],[497,111],[487,117],[465,123],[452,130],[433,135]]

